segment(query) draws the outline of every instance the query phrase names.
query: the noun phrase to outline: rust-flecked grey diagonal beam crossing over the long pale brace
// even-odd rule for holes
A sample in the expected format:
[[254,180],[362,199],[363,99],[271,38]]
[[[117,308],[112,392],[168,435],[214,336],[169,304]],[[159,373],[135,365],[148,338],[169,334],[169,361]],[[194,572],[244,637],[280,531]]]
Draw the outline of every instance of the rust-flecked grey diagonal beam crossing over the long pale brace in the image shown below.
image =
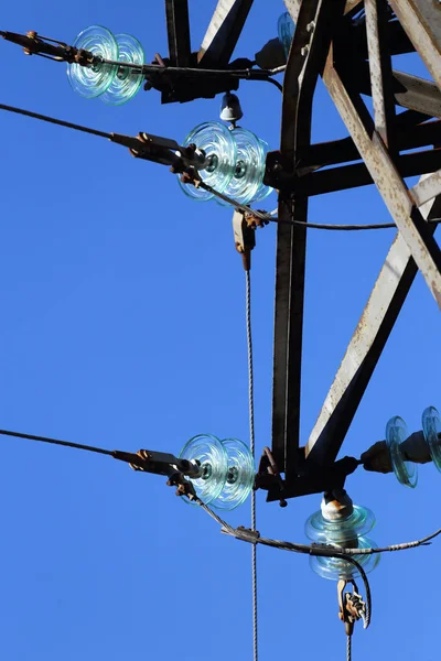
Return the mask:
[[[430,291],[441,307],[441,250],[396,170],[359,97],[353,98],[334,67],[330,53],[323,80],[345,122],[402,238],[409,246]],[[356,106],[355,106],[356,104]],[[363,119],[362,119],[363,116]]]

